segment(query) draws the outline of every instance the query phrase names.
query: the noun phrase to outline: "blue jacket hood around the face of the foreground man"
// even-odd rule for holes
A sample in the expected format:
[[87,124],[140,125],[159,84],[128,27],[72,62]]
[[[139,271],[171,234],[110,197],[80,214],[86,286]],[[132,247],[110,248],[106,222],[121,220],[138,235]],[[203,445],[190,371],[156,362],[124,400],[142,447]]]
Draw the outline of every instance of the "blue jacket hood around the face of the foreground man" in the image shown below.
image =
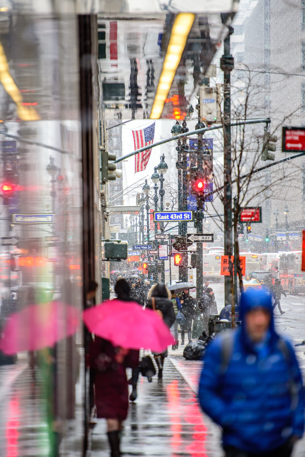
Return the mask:
[[252,287],[247,289],[246,292],[242,292],[240,301],[240,320],[242,321],[242,338],[245,341],[249,340],[247,336],[245,316],[249,311],[251,311],[254,308],[264,308],[268,311],[268,313],[270,314],[269,332],[271,335],[271,340],[274,341],[275,339],[277,339],[277,334],[274,330],[271,296],[265,290],[255,290]]

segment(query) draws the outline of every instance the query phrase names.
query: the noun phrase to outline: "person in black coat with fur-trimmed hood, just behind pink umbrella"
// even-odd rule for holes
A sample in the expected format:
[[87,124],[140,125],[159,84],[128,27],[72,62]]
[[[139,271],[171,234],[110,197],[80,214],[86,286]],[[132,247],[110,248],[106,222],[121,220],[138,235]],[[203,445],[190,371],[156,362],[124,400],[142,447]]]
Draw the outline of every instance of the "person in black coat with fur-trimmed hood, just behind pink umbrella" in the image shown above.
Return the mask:
[[[170,299],[171,293],[169,292],[165,284],[163,284],[163,282],[154,284],[148,292],[147,298],[147,308],[153,309],[152,298],[154,298],[156,310],[161,311],[165,324],[168,326],[168,328],[171,328],[171,326],[174,324],[176,320],[176,314],[174,312],[173,303]],[[159,368],[158,378],[162,378],[163,362],[166,356],[167,350],[162,352],[161,354],[154,354],[155,360]]]

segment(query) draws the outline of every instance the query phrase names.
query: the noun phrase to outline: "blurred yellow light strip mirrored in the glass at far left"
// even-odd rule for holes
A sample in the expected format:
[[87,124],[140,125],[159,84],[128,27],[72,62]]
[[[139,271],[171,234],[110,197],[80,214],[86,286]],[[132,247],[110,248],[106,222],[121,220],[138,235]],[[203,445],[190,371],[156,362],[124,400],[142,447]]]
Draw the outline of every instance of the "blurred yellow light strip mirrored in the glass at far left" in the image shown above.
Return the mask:
[[22,96],[15,81],[11,77],[9,64],[7,62],[4,49],[0,43],[0,83],[6,92],[11,96],[17,105],[18,117],[21,121],[38,121],[40,119],[37,111],[32,106],[22,105]]

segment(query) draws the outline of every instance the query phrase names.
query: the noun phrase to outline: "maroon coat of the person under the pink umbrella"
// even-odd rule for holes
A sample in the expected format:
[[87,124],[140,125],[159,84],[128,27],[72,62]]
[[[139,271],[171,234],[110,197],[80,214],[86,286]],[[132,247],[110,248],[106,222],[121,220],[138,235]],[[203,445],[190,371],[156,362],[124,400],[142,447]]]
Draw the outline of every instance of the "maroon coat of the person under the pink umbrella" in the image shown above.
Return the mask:
[[97,417],[125,420],[128,411],[126,368],[136,368],[139,351],[130,350],[123,363],[115,359],[117,348],[98,336],[90,346],[90,368],[94,371]]

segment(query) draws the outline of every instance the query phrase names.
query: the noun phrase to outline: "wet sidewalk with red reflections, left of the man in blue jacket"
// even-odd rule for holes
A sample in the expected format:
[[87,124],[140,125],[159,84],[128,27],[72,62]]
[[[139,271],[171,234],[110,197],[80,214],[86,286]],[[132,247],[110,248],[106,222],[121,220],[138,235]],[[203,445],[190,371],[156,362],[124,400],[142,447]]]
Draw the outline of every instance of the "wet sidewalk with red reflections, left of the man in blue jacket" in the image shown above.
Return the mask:
[[[162,380],[154,376],[148,383],[140,375],[138,397],[130,403],[124,425],[123,455],[221,457],[220,430],[201,412],[193,390],[201,363],[185,361],[182,349],[170,350],[168,355]],[[188,381],[179,372],[183,361],[188,365]],[[95,421],[90,456],[108,457],[105,420]]]

